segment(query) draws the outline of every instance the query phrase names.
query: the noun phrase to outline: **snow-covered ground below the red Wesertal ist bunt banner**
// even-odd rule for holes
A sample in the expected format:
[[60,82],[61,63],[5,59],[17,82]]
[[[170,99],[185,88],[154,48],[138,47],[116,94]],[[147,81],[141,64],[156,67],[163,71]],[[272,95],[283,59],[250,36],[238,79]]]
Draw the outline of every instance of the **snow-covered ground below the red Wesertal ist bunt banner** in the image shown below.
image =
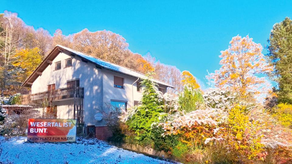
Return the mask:
[[[0,136],[3,148],[0,163],[169,163],[143,154],[123,150],[97,139],[77,138],[76,143],[29,143],[25,137],[5,141]],[[8,152],[6,155],[5,153]],[[5,155],[5,156],[4,156]],[[2,159],[3,158],[3,159]],[[66,159],[67,158],[67,159]]]

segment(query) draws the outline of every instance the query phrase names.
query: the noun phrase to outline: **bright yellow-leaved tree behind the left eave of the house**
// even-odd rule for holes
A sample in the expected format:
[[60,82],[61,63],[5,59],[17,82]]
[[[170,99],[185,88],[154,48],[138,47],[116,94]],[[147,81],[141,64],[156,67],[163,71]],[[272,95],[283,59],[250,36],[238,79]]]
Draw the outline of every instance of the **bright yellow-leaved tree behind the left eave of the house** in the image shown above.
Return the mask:
[[13,63],[14,66],[25,69],[25,72],[19,75],[19,81],[23,82],[33,70],[42,62],[40,49],[35,47],[33,49],[18,50],[15,54],[17,60]]

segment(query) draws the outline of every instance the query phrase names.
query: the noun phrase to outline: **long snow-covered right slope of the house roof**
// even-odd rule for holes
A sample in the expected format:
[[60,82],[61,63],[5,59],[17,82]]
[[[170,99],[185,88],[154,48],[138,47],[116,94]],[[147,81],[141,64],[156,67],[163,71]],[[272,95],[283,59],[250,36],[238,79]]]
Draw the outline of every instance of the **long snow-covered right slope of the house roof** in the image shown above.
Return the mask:
[[[95,63],[95,64],[97,64],[100,67],[103,67],[105,69],[113,70],[113,71],[116,71],[116,72],[119,72],[119,73],[123,73],[123,74],[130,75],[130,76],[133,76],[133,77],[138,77],[138,78],[141,78],[141,79],[145,78],[145,75],[143,73],[131,70],[129,68],[122,67],[122,66],[110,63],[110,62],[103,61],[101,59],[95,58],[93,56],[86,55],[86,54],[81,53],[79,51],[72,50],[72,49],[70,49],[68,47],[64,47],[64,46],[61,46],[61,45],[57,45],[57,47],[60,47],[63,50],[66,50],[66,51],[69,51],[71,53],[74,53],[75,55],[77,55],[77,56],[79,56],[79,57],[81,57],[83,59],[89,60],[90,62]],[[165,85],[167,87],[174,88],[173,86],[171,86],[169,84],[166,84],[164,82],[161,82],[161,81],[158,81],[158,80],[155,80],[155,79],[153,81],[155,83],[158,83],[158,84],[161,84],[161,85]]]

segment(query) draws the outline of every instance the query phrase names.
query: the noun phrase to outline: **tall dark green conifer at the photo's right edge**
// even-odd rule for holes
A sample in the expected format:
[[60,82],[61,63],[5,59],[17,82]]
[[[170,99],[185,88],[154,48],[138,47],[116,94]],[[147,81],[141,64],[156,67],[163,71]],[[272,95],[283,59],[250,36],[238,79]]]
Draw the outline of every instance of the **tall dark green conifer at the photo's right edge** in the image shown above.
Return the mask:
[[276,23],[268,42],[269,53],[266,56],[274,66],[270,77],[279,84],[278,100],[292,104],[292,20],[286,17]]

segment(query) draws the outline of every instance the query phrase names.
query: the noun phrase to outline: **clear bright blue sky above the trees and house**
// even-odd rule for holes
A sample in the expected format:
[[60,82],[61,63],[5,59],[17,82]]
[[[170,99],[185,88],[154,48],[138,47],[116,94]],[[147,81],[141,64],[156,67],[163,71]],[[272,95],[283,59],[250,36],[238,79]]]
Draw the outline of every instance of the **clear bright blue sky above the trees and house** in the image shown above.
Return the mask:
[[[150,52],[162,63],[189,70],[205,84],[207,71],[219,69],[221,50],[233,36],[249,34],[267,44],[276,22],[292,15],[292,1],[12,1],[0,12],[17,12],[27,25],[65,35],[110,30],[122,35],[130,50]],[[266,53],[266,50],[263,51]],[[206,84],[205,84],[206,85]]]

